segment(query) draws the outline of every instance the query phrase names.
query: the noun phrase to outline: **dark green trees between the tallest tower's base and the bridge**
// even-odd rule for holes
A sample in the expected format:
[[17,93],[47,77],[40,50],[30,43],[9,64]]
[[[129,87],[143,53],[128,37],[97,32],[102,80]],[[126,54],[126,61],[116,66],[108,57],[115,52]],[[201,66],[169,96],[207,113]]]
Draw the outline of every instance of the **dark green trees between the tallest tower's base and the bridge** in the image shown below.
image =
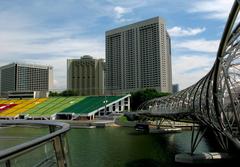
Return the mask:
[[133,92],[131,93],[131,109],[135,111],[142,103],[157,97],[167,96],[169,94],[170,93],[158,92],[156,89],[145,89]]

